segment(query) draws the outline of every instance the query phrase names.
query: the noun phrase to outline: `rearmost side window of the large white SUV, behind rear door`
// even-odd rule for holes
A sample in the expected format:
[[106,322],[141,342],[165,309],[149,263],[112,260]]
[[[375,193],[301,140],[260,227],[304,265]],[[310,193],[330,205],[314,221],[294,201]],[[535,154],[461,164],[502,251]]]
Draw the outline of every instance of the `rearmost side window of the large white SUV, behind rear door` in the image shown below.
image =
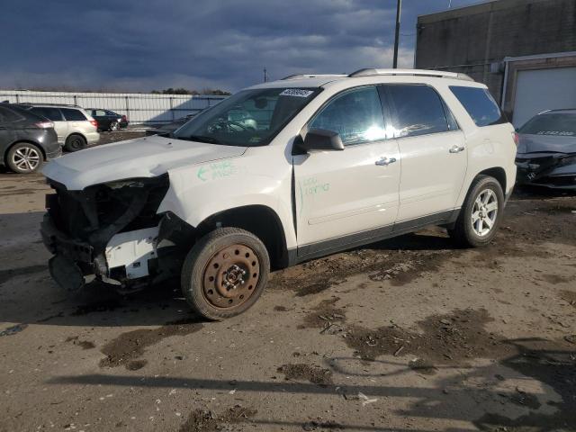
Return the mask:
[[450,90],[463,104],[476,126],[491,126],[507,122],[500,112],[498,103],[485,88],[450,85]]

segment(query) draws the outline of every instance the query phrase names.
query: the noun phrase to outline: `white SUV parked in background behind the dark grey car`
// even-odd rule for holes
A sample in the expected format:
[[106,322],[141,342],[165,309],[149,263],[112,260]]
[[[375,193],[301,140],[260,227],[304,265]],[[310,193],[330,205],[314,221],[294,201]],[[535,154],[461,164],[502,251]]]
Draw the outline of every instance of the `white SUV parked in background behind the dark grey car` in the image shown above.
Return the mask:
[[81,150],[100,140],[96,121],[84,108],[56,103],[22,103],[21,106],[52,121],[58,142],[67,151]]

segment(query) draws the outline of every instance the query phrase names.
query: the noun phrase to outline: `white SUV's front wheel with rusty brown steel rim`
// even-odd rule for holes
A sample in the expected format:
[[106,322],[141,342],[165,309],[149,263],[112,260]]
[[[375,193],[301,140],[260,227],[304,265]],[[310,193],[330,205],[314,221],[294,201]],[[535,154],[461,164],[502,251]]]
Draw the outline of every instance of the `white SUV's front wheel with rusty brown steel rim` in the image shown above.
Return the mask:
[[268,252],[254,234],[238,228],[214,229],[185,257],[182,293],[202,317],[225,320],[257,302],[269,273]]

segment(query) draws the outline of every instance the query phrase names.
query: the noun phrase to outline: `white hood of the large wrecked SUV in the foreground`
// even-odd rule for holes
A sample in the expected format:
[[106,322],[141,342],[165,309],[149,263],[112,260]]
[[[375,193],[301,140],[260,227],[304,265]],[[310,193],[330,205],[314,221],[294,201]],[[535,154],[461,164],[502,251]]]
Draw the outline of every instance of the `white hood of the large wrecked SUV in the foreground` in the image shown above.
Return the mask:
[[105,144],[58,157],[42,169],[68,190],[133,177],[162,175],[179,166],[237,157],[246,147],[151,136]]

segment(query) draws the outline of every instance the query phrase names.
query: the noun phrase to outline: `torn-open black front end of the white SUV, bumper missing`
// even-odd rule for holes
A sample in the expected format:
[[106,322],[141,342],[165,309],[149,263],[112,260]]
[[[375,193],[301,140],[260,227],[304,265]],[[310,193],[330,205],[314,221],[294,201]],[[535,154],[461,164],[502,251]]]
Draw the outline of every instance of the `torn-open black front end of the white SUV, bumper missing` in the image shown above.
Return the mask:
[[[82,191],[48,179],[48,212],[42,239],[54,254],[52,277],[77,290],[94,277],[122,292],[179,275],[179,244],[191,235],[181,220],[157,209],[169,187],[167,174],[95,184]],[[175,232],[184,229],[186,232]]]

